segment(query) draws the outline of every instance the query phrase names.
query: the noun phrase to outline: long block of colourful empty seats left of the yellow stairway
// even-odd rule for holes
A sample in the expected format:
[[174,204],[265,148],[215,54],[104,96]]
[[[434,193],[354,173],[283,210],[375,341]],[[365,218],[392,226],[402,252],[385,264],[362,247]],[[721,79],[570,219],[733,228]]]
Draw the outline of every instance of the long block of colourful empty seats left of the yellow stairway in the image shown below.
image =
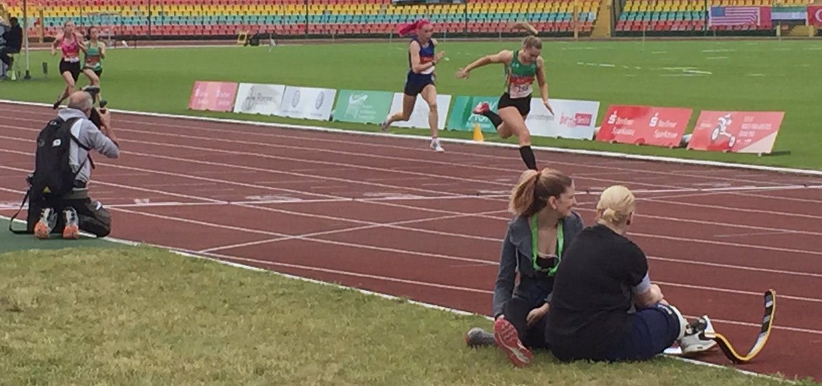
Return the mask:
[[[19,13],[21,0],[7,1]],[[104,25],[117,35],[236,35],[239,30],[279,35],[388,34],[397,25],[427,17],[438,33],[497,33],[512,21],[538,30],[590,31],[598,0],[472,0],[469,4],[395,7],[390,0],[30,0],[43,10],[44,32],[57,34],[67,20]]]

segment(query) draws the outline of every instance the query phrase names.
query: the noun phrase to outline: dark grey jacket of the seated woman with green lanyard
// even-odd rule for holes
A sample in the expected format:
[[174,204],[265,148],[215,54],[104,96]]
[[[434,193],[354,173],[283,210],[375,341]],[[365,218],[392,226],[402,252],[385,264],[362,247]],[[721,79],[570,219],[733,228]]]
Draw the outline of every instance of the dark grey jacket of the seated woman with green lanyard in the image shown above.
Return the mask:
[[[563,219],[562,232],[565,240],[562,250],[568,250],[583,228],[582,218],[576,212],[571,212]],[[502,244],[500,268],[494,287],[494,317],[502,313],[502,307],[512,296],[529,301],[532,308],[551,301],[554,278],[546,273],[533,270],[531,250],[531,227],[528,218],[517,216],[508,223],[508,232]],[[518,272],[520,273],[520,284],[515,287]]]

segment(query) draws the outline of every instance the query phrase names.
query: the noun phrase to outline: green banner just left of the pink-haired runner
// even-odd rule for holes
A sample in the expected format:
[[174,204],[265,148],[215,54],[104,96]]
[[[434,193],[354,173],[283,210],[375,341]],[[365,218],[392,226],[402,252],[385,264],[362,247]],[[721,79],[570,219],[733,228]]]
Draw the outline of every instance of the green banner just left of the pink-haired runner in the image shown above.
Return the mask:
[[388,91],[340,90],[334,120],[380,124],[386,120],[394,93]]

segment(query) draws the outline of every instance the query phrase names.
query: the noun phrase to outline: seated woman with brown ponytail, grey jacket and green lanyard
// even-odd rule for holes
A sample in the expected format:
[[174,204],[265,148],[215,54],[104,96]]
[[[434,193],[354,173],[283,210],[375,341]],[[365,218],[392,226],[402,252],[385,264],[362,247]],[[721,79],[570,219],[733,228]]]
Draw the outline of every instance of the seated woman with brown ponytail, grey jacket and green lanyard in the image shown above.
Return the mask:
[[[552,169],[527,170],[510,195],[508,224],[496,277],[494,318],[516,320],[519,338],[531,348],[545,347],[545,322],[557,264],[582,232],[584,223],[571,210],[576,204],[574,182]],[[516,273],[520,283],[515,286]],[[513,294],[513,296],[512,296]],[[512,314],[515,313],[515,314]],[[518,313],[518,314],[516,314]],[[495,336],[471,329],[469,346],[493,345]]]

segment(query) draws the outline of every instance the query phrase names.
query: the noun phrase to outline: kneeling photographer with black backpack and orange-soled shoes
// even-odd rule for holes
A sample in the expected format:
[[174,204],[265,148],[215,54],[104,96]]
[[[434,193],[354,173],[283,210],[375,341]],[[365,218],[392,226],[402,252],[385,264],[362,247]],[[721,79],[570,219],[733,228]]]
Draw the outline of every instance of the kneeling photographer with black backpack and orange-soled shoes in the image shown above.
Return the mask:
[[35,172],[30,179],[28,232],[39,239],[61,230],[67,239],[78,238],[80,231],[97,237],[111,232],[109,212],[88,194],[94,167],[89,151],[116,159],[120,149],[108,111],[94,107],[98,89],[86,90],[71,94],[68,107],[48,122],[38,138]]

